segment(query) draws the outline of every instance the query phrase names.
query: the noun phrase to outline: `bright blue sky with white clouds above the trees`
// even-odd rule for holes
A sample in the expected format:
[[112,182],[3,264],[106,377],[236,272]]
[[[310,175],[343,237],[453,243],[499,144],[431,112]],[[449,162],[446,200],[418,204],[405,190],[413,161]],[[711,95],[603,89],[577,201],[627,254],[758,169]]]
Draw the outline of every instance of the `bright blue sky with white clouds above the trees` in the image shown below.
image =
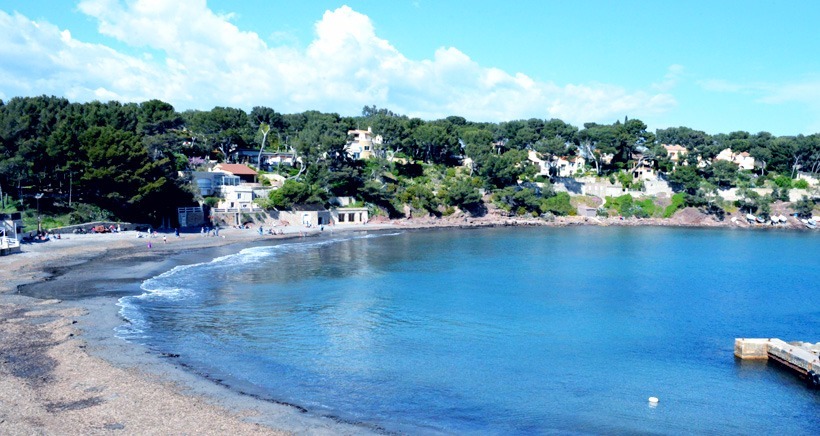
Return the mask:
[[820,132],[818,1],[0,0],[0,99]]

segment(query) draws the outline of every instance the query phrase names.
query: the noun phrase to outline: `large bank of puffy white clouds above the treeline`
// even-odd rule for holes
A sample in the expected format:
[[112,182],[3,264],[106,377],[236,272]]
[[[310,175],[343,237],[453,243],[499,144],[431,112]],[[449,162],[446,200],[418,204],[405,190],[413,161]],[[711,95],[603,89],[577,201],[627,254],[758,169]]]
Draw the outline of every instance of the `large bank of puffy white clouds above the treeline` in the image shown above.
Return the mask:
[[177,109],[266,105],[350,115],[375,104],[426,119],[555,117],[582,123],[667,112],[677,104],[668,91],[683,73],[673,65],[663,81],[629,90],[536,81],[479,65],[454,47],[412,60],[379,37],[369,17],[347,6],[324,13],[304,50],[286,39],[268,45],[239,29],[230,14],[214,13],[205,0],[83,0],[78,10],[129,53],[0,11],[0,92],[80,101],[159,98]]

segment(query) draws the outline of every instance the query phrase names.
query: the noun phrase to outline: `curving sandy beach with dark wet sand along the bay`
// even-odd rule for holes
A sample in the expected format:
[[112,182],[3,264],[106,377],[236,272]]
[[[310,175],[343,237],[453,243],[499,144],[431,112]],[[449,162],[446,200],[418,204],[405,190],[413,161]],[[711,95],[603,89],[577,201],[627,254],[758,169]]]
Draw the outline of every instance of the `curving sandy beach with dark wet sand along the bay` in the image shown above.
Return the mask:
[[[790,218],[791,220],[791,218]],[[659,221],[659,223],[655,223]],[[498,226],[661,225],[749,227],[724,222],[559,217],[554,222],[517,218],[409,219],[334,228],[333,232]],[[754,226],[768,228],[763,226]],[[783,227],[799,229],[800,227]],[[134,232],[71,235],[24,246],[2,259],[0,272],[0,433],[259,433],[361,434],[379,429],[313,416],[298,408],[236,393],[193,374],[173,358],[119,340],[116,300],[139,292],[141,280],[174,265],[221,253],[309,237],[316,229],[286,229],[260,236],[226,229],[224,238],[185,234],[137,239]],[[333,233],[329,229],[326,233]],[[105,284],[105,289],[99,285]],[[26,293],[16,293],[27,285]],[[94,287],[97,286],[97,287]],[[59,299],[51,298],[59,295]]]

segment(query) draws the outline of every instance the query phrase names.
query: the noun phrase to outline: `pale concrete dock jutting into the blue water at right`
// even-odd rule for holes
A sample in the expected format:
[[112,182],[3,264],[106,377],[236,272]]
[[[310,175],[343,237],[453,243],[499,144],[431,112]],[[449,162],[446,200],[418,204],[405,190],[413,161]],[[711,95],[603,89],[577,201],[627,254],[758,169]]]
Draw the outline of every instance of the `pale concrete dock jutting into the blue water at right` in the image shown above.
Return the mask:
[[806,384],[820,389],[820,342],[786,342],[777,338],[735,339],[735,356],[740,359],[768,360],[796,372]]

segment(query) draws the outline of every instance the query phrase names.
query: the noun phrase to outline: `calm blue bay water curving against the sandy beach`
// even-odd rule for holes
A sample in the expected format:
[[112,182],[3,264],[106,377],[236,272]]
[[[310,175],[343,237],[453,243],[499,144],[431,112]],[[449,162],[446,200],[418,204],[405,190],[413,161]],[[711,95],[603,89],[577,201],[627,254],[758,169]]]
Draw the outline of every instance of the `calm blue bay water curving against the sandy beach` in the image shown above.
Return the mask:
[[817,434],[820,392],[732,349],[820,341],[819,258],[804,232],[346,235],[148,280],[119,334],[390,431]]

